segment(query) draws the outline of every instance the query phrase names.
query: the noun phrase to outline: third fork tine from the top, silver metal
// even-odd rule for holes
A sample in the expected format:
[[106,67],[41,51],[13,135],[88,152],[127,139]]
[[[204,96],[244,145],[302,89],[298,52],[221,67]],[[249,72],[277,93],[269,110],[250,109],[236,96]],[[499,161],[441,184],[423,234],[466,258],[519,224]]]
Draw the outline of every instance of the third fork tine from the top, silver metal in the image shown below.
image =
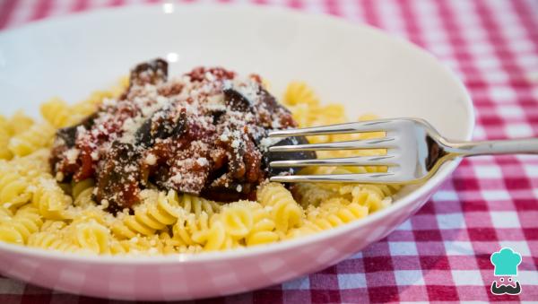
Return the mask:
[[307,166],[393,166],[395,155],[358,156],[325,160],[298,160],[298,161],[271,161],[269,166],[279,167],[307,167]]

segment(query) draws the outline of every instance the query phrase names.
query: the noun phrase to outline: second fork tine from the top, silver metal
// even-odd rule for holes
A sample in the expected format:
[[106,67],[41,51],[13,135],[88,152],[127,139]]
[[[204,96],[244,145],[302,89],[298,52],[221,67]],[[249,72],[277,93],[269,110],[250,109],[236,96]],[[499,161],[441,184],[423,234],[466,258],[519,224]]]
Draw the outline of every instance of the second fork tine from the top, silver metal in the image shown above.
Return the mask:
[[[269,147],[269,152],[296,152],[296,151],[333,151],[355,149],[378,149],[395,147],[394,137],[374,138],[361,141],[336,142],[336,143],[308,143],[291,145],[274,145]],[[391,144],[392,143],[392,144]]]

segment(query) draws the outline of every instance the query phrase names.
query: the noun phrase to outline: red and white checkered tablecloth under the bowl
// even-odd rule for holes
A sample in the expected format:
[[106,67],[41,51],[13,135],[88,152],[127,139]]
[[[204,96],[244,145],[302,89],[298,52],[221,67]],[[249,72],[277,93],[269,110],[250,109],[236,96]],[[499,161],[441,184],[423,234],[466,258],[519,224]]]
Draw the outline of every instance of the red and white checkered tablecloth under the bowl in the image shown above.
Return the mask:
[[[151,0],[0,0],[0,30]],[[427,48],[471,91],[475,139],[538,136],[537,0],[207,0],[281,5],[369,23]],[[518,296],[494,296],[490,254],[523,256]],[[376,244],[317,274],[199,302],[538,301],[538,157],[462,162],[419,213]],[[108,302],[0,277],[0,303]]]

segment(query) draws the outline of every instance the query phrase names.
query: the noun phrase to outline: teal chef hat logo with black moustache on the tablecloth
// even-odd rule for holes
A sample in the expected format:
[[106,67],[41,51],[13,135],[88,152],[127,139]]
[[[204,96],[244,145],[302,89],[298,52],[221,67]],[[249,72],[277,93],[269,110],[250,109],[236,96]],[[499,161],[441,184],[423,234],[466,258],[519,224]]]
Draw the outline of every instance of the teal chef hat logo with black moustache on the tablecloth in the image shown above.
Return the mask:
[[[490,256],[490,261],[495,266],[495,276],[500,276],[500,283],[491,282],[491,293],[495,295],[521,293],[521,284],[514,277],[517,276],[517,266],[521,264],[521,255],[512,248],[502,248]],[[507,277],[505,283],[505,277]]]

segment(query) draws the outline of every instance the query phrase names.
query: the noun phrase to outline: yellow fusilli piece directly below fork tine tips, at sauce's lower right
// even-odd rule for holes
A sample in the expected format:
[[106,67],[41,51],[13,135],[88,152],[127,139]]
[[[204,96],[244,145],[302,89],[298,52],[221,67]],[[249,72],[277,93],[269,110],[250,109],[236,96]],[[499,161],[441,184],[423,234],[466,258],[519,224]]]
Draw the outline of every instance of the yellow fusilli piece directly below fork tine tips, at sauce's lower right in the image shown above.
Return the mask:
[[282,184],[268,183],[261,186],[257,200],[260,204],[272,208],[271,215],[276,230],[286,232],[302,223],[304,217],[302,208]]

